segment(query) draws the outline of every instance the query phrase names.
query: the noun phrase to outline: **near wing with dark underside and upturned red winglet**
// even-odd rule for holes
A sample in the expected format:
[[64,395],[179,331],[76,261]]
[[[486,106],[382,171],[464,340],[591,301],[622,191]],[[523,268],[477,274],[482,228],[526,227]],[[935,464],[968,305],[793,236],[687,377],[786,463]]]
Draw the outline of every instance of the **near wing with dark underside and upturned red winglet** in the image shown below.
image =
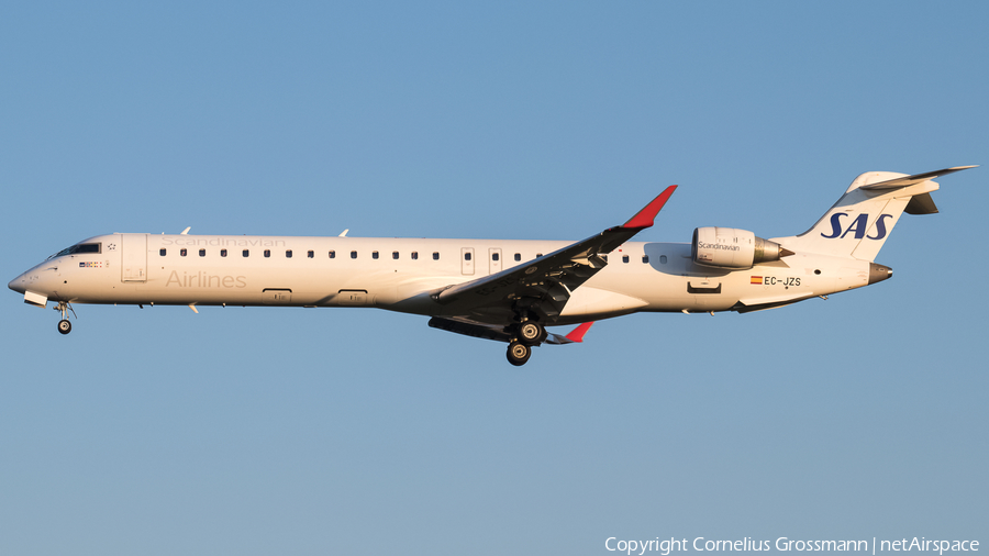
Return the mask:
[[508,270],[448,286],[432,297],[447,314],[509,314],[521,308],[553,320],[570,292],[608,265],[607,255],[653,225],[659,209],[676,190],[670,186],[620,226],[543,255]]

